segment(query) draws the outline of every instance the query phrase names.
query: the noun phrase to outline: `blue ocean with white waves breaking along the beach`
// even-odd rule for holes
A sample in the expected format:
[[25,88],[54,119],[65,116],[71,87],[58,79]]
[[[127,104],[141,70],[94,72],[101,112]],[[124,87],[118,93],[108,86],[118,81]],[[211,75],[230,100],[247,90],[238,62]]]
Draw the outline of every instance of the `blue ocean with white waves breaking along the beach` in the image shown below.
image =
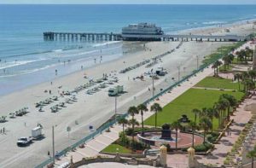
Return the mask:
[[120,32],[150,22],[164,32],[256,18],[256,5],[0,5],[0,96],[118,59],[120,42],[46,42],[43,32]]

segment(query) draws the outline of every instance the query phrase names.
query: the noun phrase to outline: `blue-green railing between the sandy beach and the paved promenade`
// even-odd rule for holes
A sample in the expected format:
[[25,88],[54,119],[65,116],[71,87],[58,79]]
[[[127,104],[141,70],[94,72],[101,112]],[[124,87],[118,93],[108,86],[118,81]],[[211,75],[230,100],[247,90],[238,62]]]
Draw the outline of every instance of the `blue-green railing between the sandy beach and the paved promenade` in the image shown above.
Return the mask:
[[[240,43],[241,45],[242,43]],[[239,47],[239,46],[236,46]],[[177,87],[179,84],[182,84],[183,82],[187,81],[189,78],[193,77],[196,75],[196,73],[203,71],[206,67],[209,67],[212,65],[213,62],[219,60],[222,58],[223,55],[218,54],[214,60],[212,60],[211,62],[208,63],[204,63],[201,65],[201,67],[193,72],[191,72],[189,75],[183,77],[180,81],[177,81],[175,84],[172,84],[171,86],[169,86],[168,88],[166,88],[165,90],[160,91],[160,93],[158,93],[157,95],[149,98],[148,100],[144,101],[143,104],[148,105],[148,103],[154,101],[156,98],[166,94],[168,91],[172,90],[173,88]],[[119,118],[126,118],[128,116],[128,113],[125,113],[121,116],[119,116]],[[105,123],[104,125],[102,125],[101,127],[99,127],[96,131],[92,132],[90,135],[85,136],[83,139],[81,139],[79,142],[74,143],[72,146],[63,149],[58,155],[59,156],[64,156],[65,154],[67,154],[67,152],[72,151],[74,148],[78,148],[80,145],[84,144],[85,142],[90,141],[91,139],[93,139],[95,136],[98,136],[100,134],[102,134],[103,131],[109,129],[111,126],[115,125],[117,123],[118,119],[110,119],[107,123]],[[46,165],[49,165],[50,163],[53,162],[53,159],[47,159],[45,160],[42,164],[36,166],[36,168],[44,168]]]

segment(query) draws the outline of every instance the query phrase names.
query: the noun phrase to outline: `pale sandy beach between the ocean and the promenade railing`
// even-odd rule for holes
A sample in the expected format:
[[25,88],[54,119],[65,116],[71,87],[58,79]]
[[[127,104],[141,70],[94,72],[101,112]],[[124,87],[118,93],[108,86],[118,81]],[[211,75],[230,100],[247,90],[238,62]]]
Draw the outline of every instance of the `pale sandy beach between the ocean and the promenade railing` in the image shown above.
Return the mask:
[[[230,27],[230,33],[248,34],[252,32],[252,23],[238,24]],[[224,28],[211,28],[206,30],[196,30],[193,33],[222,34]],[[47,152],[51,151],[51,128],[55,126],[55,151],[61,151],[68,145],[78,142],[79,139],[90,133],[89,126],[94,128],[102,125],[110,119],[114,114],[114,98],[108,96],[108,88],[113,85],[124,85],[125,94],[118,97],[117,107],[118,113],[125,113],[125,110],[133,105],[137,105],[152,96],[152,79],[144,75],[144,72],[150,72],[153,68],[158,67],[166,69],[168,74],[154,81],[154,94],[165,89],[167,86],[177,81],[177,67],[180,67],[181,76],[189,74],[196,69],[196,56],[199,61],[203,57],[211,54],[220,46],[230,44],[229,42],[152,42],[145,44],[145,50],[128,52],[121,58],[100,64],[96,62],[95,67],[83,69],[80,72],[67,75],[61,78],[55,78],[52,84],[46,82],[20,90],[18,92],[0,97],[0,107],[2,107],[0,116],[9,116],[22,107],[28,107],[29,112],[26,116],[9,119],[6,123],[0,123],[0,128],[6,130],[5,134],[0,134],[0,167],[33,167],[47,159]],[[143,43],[139,44],[142,45]],[[180,45],[179,49],[176,49]],[[125,67],[131,67],[138,62],[151,60],[154,56],[161,55],[175,49],[171,54],[161,58],[159,63],[153,67],[138,67],[125,73],[119,73]],[[103,58],[104,59],[104,58]],[[67,103],[67,107],[63,107],[57,113],[50,113],[50,107],[65,101],[70,96],[60,97],[62,91],[73,90],[81,84],[86,84],[90,78],[102,78],[102,74],[107,73],[108,76],[119,78],[119,83],[109,85],[108,88],[101,89],[93,95],[86,94],[86,90],[76,94],[77,101]],[[88,78],[84,78],[84,74]],[[137,77],[143,75],[144,80]],[[136,78],[136,79],[133,79]],[[174,78],[174,80],[173,80]],[[61,87],[60,87],[61,86]],[[149,89],[149,90],[148,90]],[[44,90],[51,90],[44,92]],[[54,101],[50,105],[45,106],[44,112],[38,112],[35,103],[43,101],[52,96],[59,96],[59,101]],[[20,136],[31,136],[32,128],[38,124],[44,127],[45,138],[41,141],[33,142],[26,148],[16,146],[17,138]],[[71,127],[70,136],[68,138],[67,126]],[[32,160],[32,161],[28,161]]]

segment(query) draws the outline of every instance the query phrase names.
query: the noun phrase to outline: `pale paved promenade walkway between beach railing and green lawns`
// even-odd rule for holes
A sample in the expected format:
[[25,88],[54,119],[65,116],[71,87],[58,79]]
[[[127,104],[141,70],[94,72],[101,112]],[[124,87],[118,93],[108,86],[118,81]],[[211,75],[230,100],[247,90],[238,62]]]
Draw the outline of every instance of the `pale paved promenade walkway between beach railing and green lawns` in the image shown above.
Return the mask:
[[[212,74],[213,70],[211,67],[206,68],[203,72],[198,72],[198,74],[192,78],[189,78],[189,81],[183,82],[181,86],[175,87],[171,93],[166,93],[163,96],[159,97],[159,101],[153,101],[148,104],[148,109],[150,106],[157,102],[161,107],[165,107],[166,104],[176,99],[178,96],[182,95],[185,91],[192,88],[195,84],[201,81],[201,79],[206,78],[210,74]],[[143,118],[148,119],[153,112],[144,113]],[[137,114],[135,116],[138,122],[141,123],[141,115]],[[119,138],[119,131],[122,131],[122,127],[120,125],[114,125],[113,128],[110,128],[110,132],[103,132],[101,135],[96,136],[94,139],[86,142],[85,148],[77,148],[75,152],[68,152],[67,156],[61,157],[61,160],[56,160],[55,165],[61,165],[62,163],[69,162],[71,156],[73,157],[73,162],[77,162],[82,158],[93,157],[99,154],[102,149],[106,148],[112,142],[116,141]]]

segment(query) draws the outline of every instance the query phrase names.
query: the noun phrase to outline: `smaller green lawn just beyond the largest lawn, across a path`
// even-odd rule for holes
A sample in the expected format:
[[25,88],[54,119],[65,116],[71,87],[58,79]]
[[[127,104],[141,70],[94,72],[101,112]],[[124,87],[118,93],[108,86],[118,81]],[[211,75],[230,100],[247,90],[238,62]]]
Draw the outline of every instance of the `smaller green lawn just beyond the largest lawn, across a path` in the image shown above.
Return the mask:
[[[195,86],[204,88],[238,90],[238,83],[233,83],[232,80],[226,78],[207,77],[202,79],[198,84],[195,84]],[[242,85],[240,87],[242,88]]]

